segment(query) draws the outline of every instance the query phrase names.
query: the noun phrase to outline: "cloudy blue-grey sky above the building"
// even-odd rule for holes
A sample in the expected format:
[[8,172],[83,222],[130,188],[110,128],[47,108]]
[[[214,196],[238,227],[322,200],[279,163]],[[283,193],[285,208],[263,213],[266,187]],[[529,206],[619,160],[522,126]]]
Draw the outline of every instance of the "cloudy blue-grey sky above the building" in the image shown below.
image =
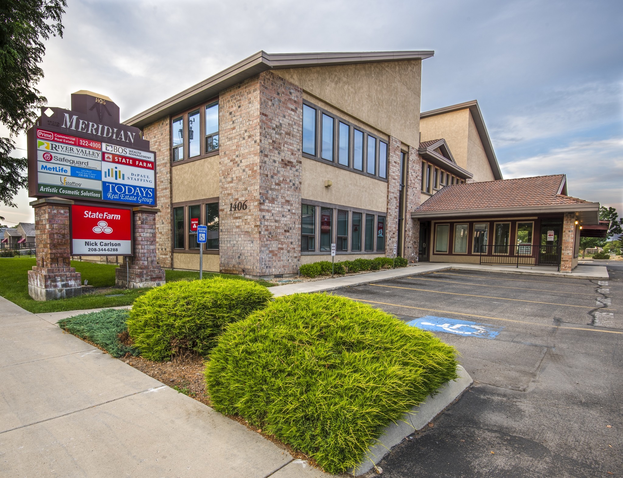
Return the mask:
[[[422,110],[477,99],[505,178],[566,173],[569,194],[623,213],[620,0],[68,4],[43,62],[49,105],[92,90],[123,120],[259,50],[435,50]],[[0,216],[33,221],[25,191],[18,201]]]

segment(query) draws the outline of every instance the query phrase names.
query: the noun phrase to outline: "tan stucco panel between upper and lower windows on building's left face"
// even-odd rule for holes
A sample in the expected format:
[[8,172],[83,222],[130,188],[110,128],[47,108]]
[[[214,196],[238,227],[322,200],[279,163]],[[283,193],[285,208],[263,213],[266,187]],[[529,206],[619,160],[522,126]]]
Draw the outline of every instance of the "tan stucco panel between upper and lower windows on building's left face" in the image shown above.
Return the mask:
[[171,168],[173,202],[219,196],[219,156],[191,161]]

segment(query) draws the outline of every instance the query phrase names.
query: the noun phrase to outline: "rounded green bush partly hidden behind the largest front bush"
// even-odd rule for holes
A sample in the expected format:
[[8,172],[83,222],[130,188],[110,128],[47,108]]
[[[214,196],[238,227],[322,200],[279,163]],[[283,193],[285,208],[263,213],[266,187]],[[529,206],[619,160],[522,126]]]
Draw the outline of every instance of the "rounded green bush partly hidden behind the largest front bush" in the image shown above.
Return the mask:
[[148,360],[206,355],[229,323],[263,308],[272,294],[250,280],[169,282],[135,300],[128,332]]

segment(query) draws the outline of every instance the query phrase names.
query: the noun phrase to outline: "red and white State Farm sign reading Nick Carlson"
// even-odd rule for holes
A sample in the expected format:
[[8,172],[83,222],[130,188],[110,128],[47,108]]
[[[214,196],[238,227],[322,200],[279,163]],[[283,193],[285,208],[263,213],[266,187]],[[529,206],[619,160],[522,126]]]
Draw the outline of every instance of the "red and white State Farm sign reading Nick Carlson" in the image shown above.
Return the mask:
[[74,256],[131,256],[130,209],[72,206],[71,244]]

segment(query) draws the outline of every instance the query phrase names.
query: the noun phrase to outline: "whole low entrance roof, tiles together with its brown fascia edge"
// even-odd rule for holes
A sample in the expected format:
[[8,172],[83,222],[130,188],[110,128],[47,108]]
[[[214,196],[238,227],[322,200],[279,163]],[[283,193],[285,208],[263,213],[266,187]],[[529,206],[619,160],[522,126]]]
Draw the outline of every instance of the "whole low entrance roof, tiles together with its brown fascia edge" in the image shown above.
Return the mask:
[[565,188],[564,174],[454,184],[420,204],[411,217],[583,212],[587,221],[599,221],[599,203],[561,194]]

